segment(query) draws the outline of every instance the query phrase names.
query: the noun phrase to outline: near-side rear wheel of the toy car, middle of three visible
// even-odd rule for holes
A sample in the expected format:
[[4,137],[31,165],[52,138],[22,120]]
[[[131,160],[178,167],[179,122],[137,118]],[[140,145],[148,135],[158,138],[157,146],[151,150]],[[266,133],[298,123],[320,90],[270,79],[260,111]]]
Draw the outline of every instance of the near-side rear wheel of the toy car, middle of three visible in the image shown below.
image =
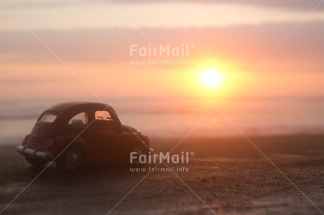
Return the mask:
[[82,169],[85,163],[85,152],[77,145],[66,149],[56,160],[56,167],[69,173],[77,172]]

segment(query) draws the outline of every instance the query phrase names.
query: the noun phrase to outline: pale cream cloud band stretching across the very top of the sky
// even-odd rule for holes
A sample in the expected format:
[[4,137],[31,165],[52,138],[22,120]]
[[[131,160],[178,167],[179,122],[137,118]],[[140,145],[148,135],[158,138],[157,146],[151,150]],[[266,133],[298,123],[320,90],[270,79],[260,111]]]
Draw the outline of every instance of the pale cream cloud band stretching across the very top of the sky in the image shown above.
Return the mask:
[[[267,22],[299,22],[307,11],[256,7],[242,4],[116,4],[116,6],[66,6],[15,8],[14,13],[33,30],[180,28],[262,25]],[[324,21],[316,11],[304,22]],[[10,11],[1,11],[0,30],[26,30]]]

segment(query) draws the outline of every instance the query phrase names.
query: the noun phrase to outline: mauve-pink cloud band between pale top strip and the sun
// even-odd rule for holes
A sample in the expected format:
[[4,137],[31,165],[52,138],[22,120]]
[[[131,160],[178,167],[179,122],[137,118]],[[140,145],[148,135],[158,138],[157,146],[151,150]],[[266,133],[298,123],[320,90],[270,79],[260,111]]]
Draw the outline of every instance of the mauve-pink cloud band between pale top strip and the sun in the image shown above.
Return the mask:
[[[189,58],[226,59],[253,67],[297,23],[190,28],[172,46],[193,44]],[[265,64],[289,70],[323,71],[324,22],[300,25],[266,60]],[[168,45],[184,29],[141,29],[154,44]],[[41,31],[36,34],[66,63],[129,64],[130,45],[150,44],[136,30]],[[58,63],[30,32],[0,32],[1,63]]]

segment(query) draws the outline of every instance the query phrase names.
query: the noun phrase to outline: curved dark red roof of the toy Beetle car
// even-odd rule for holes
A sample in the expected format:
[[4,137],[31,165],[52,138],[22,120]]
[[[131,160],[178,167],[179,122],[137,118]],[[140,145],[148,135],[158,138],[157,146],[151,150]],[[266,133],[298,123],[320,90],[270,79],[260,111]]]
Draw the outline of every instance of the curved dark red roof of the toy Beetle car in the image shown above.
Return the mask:
[[45,112],[56,112],[58,114],[61,114],[63,112],[68,112],[70,110],[75,110],[81,107],[98,107],[98,106],[106,106],[108,108],[111,108],[111,106],[104,104],[104,103],[95,103],[90,101],[83,101],[83,100],[75,100],[75,101],[69,101],[64,103],[58,103],[56,105],[52,105],[49,107]]

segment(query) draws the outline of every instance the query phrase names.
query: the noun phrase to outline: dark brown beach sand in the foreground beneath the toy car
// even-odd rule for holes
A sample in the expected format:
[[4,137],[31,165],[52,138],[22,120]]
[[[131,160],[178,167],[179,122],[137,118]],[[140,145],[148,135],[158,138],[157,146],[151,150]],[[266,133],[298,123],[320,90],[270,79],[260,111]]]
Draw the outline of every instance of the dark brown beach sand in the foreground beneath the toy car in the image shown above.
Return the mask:
[[[152,138],[151,145],[156,152],[166,152],[178,141]],[[184,167],[189,171],[148,174],[111,164],[86,165],[79,174],[71,175],[58,171],[52,164],[29,186],[39,170],[30,167],[15,152],[15,146],[1,146],[0,211],[26,186],[3,214],[107,214],[111,210],[111,214],[320,214],[320,210],[324,211],[324,135],[254,136],[251,141],[278,169],[242,137],[189,138],[175,152],[194,152],[194,156],[190,155],[189,164],[173,164],[174,168]]]

